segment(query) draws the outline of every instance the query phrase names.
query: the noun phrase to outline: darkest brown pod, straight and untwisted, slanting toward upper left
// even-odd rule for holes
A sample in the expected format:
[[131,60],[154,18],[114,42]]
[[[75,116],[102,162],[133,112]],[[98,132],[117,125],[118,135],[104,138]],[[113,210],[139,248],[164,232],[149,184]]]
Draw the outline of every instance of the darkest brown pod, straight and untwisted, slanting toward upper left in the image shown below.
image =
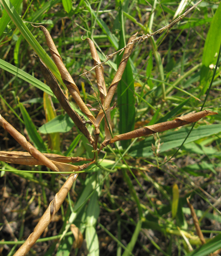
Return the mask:
[[68,116],[73,120],[77,128],[84,134],[84,136],[88,139],[90,144],[95,145],[95,141],[90,135],[86,125],[84,124],[81,117],[78,115],[76,111],[74,111],[67,98],[65,97],[64,92],[61,90],[55,76],[51,73],[49,68],[45,65],[45,63],[42,62],[42,60],[39,58],[40,61],[40,68],[41,72],[47,82],[47,85],[51,88],[52,92],[55,94],[56,98],[60,102],[61,106],[64,108]]

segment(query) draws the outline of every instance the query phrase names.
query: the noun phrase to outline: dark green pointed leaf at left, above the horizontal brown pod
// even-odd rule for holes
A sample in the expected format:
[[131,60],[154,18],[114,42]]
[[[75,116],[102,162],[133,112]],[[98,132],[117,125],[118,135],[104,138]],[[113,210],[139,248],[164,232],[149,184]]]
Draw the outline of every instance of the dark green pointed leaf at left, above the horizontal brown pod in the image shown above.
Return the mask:
[[27,129],[28,136],[29,136],[30,140],[33,142],[33,144],[39,151],[46,152],[46,147],[45,147],[44,141],[41,138],[41,136],[38,134],[37,129],[36,129],[35,125],[33,124],[25,107],[23,106],[23,104],[21,102],[19,102],[18,106],[20,108],[22,117],[25,121],[25,127]]

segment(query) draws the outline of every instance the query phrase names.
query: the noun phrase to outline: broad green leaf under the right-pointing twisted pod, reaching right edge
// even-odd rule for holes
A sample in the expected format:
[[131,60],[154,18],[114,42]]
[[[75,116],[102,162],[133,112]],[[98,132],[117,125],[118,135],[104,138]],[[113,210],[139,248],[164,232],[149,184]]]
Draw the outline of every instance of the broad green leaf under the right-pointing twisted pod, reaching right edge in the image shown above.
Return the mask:
[[[167,131],[163,134],[160,134],[160,153],[165,152],[169,149],[179,147],[185,137],[187,136],[190,127],[182,127],[176,131]],[[204,125],[200,126],[197,129],[193,129],[188,139],[185,141],[184,144],[189,143],[191,141],[198,140],[200,138],[208,137],[213,134],[218,134],[221,131],[221,125]],[[152,144],[155,143],[153,136],[147,137],[145,140],[137,143],[137,145],[132,146],[129,150],[131,156],[143,156],[148,157],[153,154],[152,151]]]

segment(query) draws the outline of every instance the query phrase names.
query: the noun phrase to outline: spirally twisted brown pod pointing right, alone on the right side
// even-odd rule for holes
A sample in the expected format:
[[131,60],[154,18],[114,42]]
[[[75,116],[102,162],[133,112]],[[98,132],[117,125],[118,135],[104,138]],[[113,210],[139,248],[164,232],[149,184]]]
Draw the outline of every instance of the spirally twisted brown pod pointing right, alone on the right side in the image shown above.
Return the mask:
[[[166,121],[160,124],[145,126],[140,129],[136,129],[134,131],[130,131],[124,134],[114,136],[113,139],[110,139],[109,143],[114,143],[118,140],[132,139],[132,138],[154,134],[156,132],[170,130],[179,126],[191,124],[193,122],[200,120],[203,117],[210,116],[210,115],[217,115],[217,114],[218,113],[212,112],[210,110],[203,110],[197,113],[188,114],[182,117],[175,118],[173,121]],[[106,143],[106,145],[107,144],[108,143]]]

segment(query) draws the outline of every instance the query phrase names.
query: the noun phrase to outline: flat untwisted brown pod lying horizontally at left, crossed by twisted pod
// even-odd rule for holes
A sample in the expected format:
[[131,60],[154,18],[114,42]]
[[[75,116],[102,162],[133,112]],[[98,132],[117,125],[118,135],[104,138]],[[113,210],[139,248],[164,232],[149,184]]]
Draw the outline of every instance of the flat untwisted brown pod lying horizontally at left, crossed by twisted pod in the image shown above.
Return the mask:
[[[77,163],[80,161],[90,161],[92,162],[93,159],[88,159],[84,157],[68,157],[68,156],[61,156],[57,154],[48,154],[43,153],[48,159],[60,162],[60,163]],[[23,165],[42,165],[42,163],[33,158],[28,152],[21,152],[21,151],[0,151],[0,161],[4,161],[11,164],[23,164]]]

